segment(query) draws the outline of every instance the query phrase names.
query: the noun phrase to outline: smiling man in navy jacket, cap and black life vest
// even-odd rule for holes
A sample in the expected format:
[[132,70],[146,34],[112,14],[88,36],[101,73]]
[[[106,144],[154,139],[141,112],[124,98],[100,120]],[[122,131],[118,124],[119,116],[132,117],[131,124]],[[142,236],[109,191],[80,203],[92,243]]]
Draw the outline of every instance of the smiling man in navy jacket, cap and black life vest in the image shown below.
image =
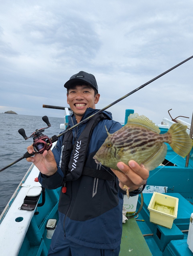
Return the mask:
[[[80,71],[65,87],[73,111],[69,126],[97,112],[95,104],[100,94],[92,74]],[[111,113],[103,112],[61,136],[53,151],[27,159],[40,170],[42,186],[61,186],[59,221],[49,255],[119,255],[124,193],[121,188],[127,185],[131,196],[139,194],[148,170],[132,160],[129,166],[117,164],[122,173],[107,167],[99,169],[93,156],[107,137],[105,127],[114,133],[122,126],[112,120]],[[28,147],[28,152],[33,152],[33,146]]]

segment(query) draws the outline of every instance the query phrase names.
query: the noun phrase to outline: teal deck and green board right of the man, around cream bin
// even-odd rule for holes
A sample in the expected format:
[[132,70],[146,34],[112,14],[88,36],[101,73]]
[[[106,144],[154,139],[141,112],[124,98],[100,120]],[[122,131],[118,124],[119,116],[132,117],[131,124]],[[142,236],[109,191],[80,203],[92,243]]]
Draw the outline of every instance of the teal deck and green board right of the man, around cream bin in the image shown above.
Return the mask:
[[[129,219],[123,224],[120,256],[156,255],[156,256],[192,256],[187,245],[187,230],[193,205],[179,193],[167,193],[177,197],[178,217],[171,229],[149,222],[147,209],[153,194],[143,194],[143,208],[138,218]],[[140,198],[138,201],[139,207]],[[146,235],[143,237],[143,235]],[[145,241],[144,241],[145,240]],[[150,249],[150,251],[149,251]],[[130,252],[130,254],[128,254]],[[149,254],[150,253],[150,254]]]

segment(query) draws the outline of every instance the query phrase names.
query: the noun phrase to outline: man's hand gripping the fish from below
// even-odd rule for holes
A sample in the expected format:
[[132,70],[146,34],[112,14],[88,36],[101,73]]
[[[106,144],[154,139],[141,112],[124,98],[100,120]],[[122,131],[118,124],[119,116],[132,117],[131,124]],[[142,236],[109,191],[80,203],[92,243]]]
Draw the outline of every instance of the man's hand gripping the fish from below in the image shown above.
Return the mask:
[[138,189],[141,185],[146,183],[149,177],[149,171],[141,164],[141,166],[134,160],[128,161],[128,165],[123,162],[118,162],[117,167],[121,170],[111,169],[119,179],[119,186],[124,190],[126,185],[130,188],[129,191]]

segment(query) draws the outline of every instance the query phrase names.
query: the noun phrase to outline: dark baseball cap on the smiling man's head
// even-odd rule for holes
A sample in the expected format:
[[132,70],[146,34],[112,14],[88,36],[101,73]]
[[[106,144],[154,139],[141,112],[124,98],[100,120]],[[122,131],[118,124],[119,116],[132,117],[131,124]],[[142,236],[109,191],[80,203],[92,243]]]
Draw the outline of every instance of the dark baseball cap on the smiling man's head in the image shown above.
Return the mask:
[[92,75],[92,74],[89,74],[84,71],[80,71],[79,73],[71,76],[71,78],[65,83],[64,87],[69,89],[70,86],[75,82],[86,82],[92,88],[94,88],[98,93],[97,81],[96,81],[94,75]]

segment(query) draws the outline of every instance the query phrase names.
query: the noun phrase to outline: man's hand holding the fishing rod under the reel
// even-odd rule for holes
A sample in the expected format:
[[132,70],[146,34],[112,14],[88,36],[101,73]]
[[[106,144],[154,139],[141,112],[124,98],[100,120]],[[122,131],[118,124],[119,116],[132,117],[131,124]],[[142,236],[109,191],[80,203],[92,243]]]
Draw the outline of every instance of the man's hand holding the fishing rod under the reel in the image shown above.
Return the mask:
[[[35,152],[32,145],[28,146],[27,150],[30,154]],[[51,150],[45,150],[43,154],[36,153],[34,157],[28,157],[26,160],[34,163],[42,174],[50,176],[57,172],[57,164]]]

